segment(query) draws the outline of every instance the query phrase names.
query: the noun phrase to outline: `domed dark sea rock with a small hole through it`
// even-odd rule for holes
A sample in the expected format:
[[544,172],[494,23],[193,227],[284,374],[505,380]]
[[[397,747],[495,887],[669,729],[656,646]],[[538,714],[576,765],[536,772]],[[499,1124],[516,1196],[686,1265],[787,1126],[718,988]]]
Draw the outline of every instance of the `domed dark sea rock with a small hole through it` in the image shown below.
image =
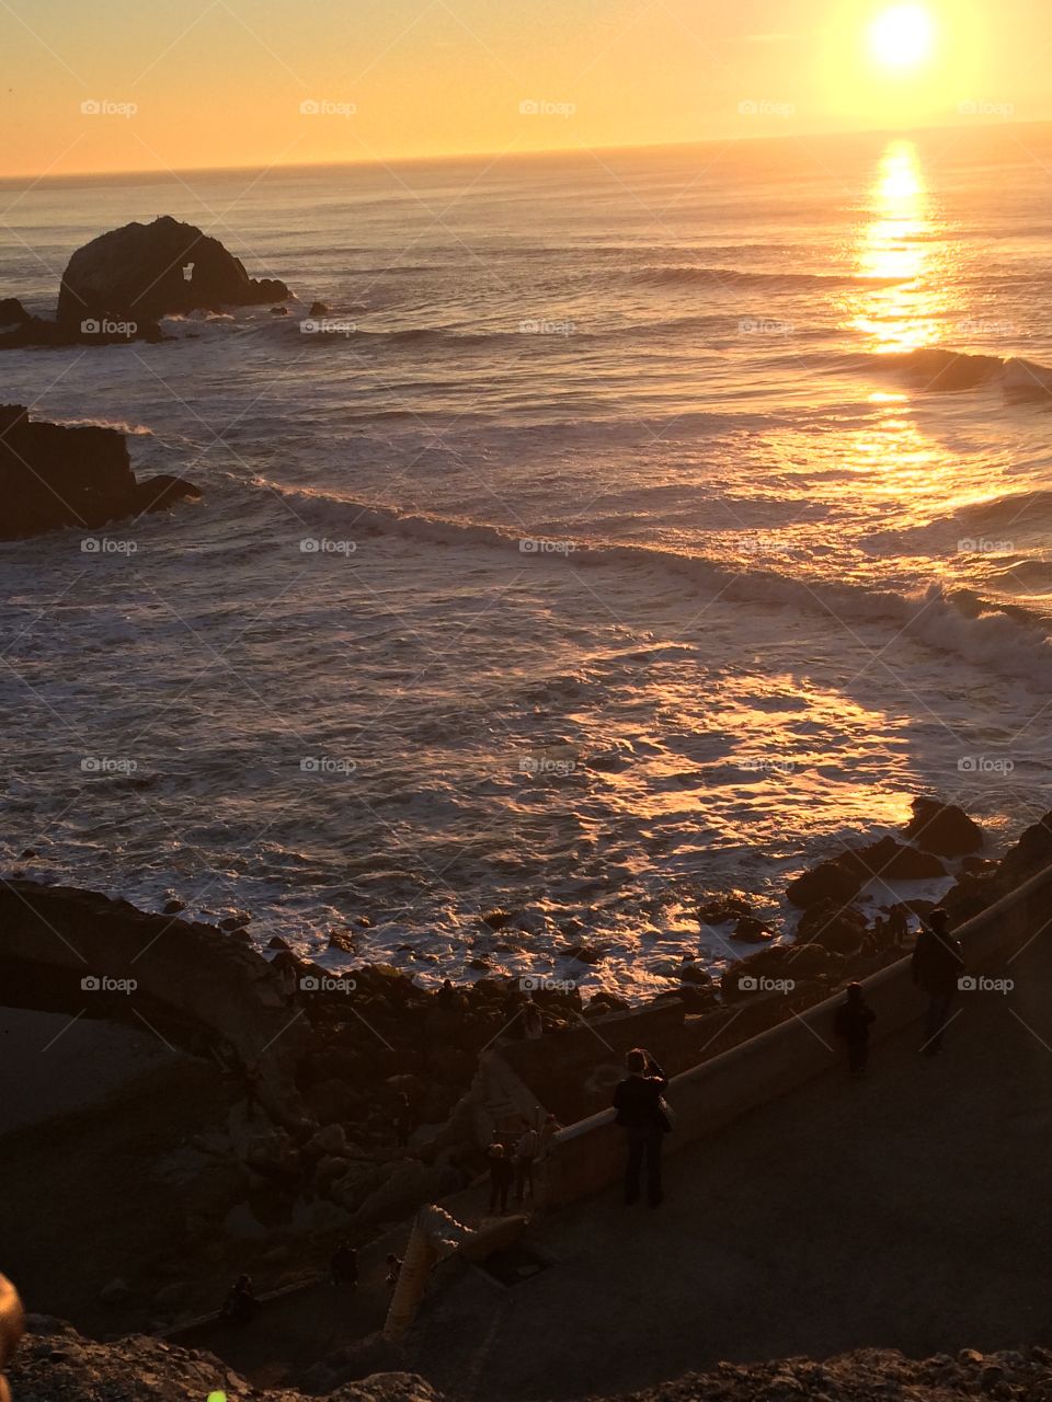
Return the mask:
[[283,301],[274,278],[250,278],[217,238],[163,215],[100,234],[69,261],[59,290],[59,324],[146,324],[174,313],[217,311]]

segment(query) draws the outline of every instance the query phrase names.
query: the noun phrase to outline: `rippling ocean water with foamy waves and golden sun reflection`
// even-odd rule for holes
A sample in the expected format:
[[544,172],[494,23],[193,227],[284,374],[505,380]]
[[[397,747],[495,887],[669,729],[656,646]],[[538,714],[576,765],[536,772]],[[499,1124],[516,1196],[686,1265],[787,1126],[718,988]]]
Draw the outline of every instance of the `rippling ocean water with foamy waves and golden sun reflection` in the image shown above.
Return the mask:
[[1049,164],[1006,126],[0,185],[34,310],[160,213],[299,299],[3,352],[205,489],[0,547],[4,866],[638,997],[741,952],[699,894],[784,914],[916,794],[1011,837],[1052,806]]

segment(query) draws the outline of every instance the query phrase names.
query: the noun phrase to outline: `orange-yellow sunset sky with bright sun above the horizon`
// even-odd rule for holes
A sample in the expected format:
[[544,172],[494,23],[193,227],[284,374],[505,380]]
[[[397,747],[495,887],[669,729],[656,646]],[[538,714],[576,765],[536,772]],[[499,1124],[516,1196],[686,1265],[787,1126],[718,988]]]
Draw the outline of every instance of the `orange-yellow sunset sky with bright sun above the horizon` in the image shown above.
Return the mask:
[[0,45],[3,175],[1052,115],[1045,0],[0,0]]

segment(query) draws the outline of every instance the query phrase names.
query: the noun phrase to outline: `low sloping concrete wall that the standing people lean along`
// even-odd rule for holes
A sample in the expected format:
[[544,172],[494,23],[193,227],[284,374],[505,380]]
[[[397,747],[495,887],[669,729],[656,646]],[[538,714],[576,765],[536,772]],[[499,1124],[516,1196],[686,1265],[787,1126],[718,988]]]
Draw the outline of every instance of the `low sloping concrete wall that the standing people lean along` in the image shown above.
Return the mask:
[[[976,973],[989,970],[1027,939],[1044,934],[1048,924],[1052,924],[1052,868],[975,916],[955,934],[964,944],[968,972]],[[926,1002],[913,986],[909,958],[865,979],[863,987],[877,1014],[874,1040],[917,1022],[924,1012]],[[673,1077],[668,1101],[676,1127],[668,1136],[668,1151],[717,1133],[738,1116],[836,1064],[843,1050],[832,1028],[842,1001],[843,993],[837,993],[801,1016]],[[548,1206],[602,1190],[620,1178],[623,1165],[623,1134],[613,1123],[613,1110],[568,1126],[551,1141]]]

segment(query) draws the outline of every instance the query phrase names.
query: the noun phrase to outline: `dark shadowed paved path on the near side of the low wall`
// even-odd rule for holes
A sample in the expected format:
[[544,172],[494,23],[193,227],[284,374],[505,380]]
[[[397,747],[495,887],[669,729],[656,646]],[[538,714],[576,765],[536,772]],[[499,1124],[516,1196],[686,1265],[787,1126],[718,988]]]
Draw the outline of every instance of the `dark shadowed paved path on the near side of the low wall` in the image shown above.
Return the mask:
[[[962,994],[941,1057],[908,1030],[865,1081],[837,1064],[672,1155],[659,1210],[609,1192],[534,1224],[553,1265],[532,1280],[440,1265],[401,1356],[373,1366],[530,1402],[722,1359],[1052,1343],[1052,949],[994,973],[1016,988]],[[382,1314],[382,1287],[353,1305],[310,1291],[217,1352],[262,1381],[268,1360],[303,1368]]]

